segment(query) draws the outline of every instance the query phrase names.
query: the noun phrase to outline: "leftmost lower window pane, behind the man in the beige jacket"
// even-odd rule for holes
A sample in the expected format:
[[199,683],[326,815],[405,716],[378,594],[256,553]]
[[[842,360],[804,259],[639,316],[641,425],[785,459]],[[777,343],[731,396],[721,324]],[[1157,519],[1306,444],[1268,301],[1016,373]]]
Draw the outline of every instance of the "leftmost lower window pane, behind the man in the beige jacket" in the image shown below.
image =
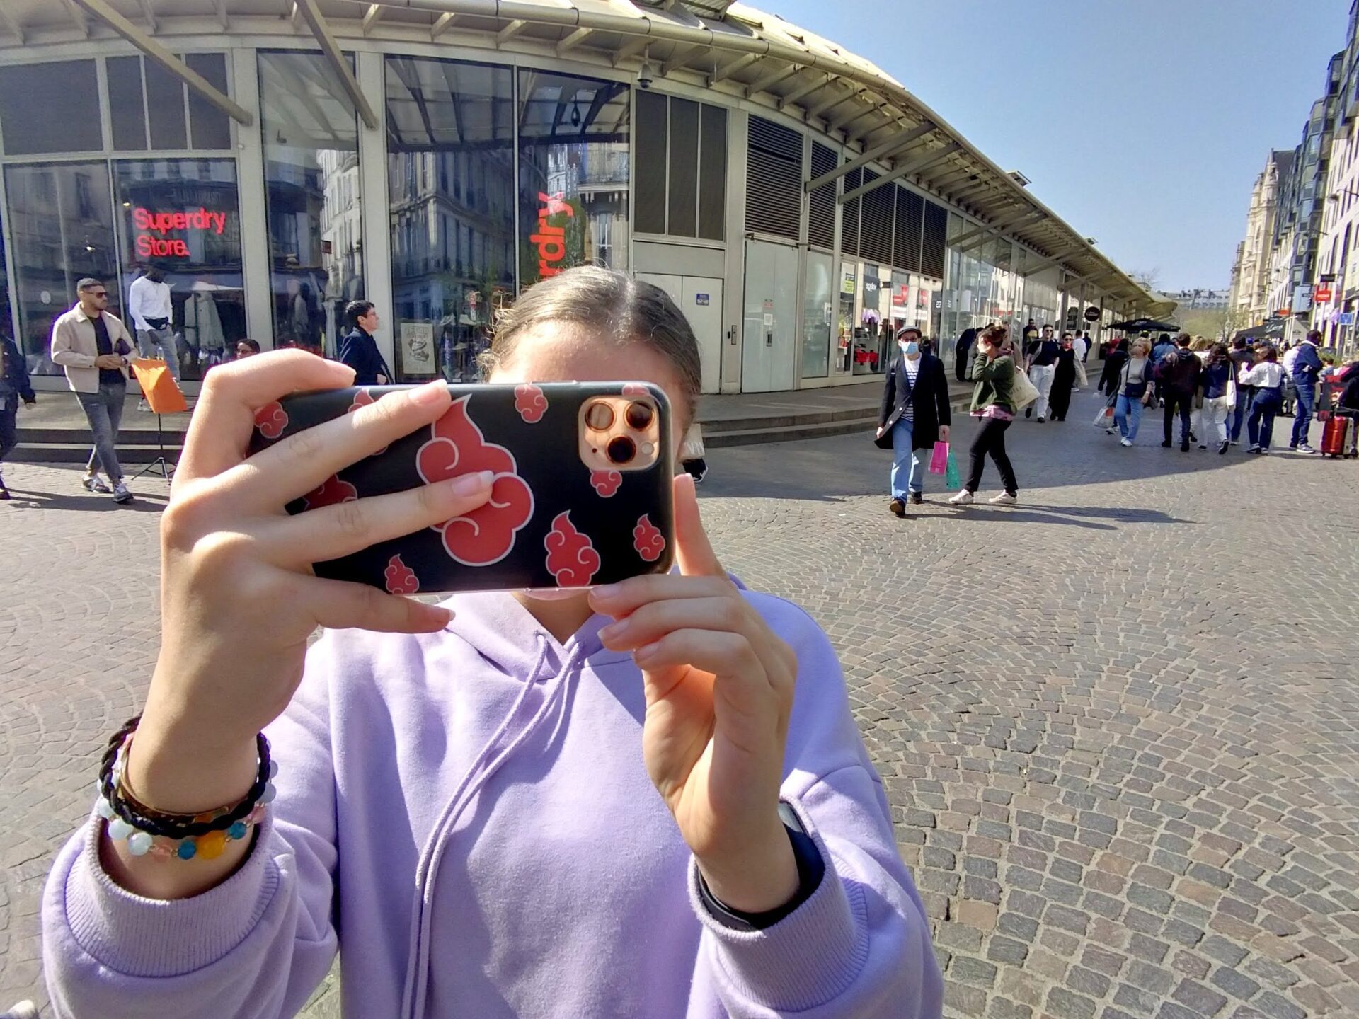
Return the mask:
[[106,163],[11,166],[5,170],[19,348],[29,371],[61,375],[52,363],[52,323],[76,303],[76,281],[94,276],[109,287],[109,310],[121,317],[113,202]]

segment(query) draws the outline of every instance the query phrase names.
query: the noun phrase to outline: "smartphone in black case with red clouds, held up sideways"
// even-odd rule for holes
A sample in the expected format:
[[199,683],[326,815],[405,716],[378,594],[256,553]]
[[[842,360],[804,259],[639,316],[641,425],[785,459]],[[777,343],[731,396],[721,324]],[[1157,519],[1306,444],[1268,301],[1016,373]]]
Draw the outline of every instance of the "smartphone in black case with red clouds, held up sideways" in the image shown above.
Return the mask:
[[[250,450],[409,386],[299,393],[255,414]],[[314,564],[317,576],[393,594],[560,590],[669,572],[674,561],[671,413],[643,382],[450,385],[453,406],[329,477],[289,514],[495,471],[466,516]]]

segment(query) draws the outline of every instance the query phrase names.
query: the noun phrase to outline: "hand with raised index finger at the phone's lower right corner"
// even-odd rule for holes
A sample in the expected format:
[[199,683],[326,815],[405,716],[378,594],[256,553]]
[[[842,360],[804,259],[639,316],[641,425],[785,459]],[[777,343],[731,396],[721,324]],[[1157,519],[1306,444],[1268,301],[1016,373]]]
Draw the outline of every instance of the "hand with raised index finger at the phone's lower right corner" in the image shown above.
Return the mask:
[[617,620],[599,634],[605,645],[641,667],[647,770],[708,889],[762,913],[798,891],[779,819],[798,659],[718,562],[693,481],[675,478],[674,493],[680,575],[599,587],[590,601]]

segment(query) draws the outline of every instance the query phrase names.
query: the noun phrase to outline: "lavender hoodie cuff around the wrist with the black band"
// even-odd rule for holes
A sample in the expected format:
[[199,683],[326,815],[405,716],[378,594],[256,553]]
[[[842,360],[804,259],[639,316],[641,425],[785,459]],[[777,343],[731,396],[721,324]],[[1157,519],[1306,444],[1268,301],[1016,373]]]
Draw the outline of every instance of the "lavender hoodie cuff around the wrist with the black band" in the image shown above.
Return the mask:
[[704,929],[704,951],[722,982],[743,1001],[775,1011],[815,1008],[844,993],[868,959],[868,917],[862,895],[847,890],[825,842],[817,890],[792,913],[762,931],[737,931],[703,902],[697,860],[689,861],[689,901]]

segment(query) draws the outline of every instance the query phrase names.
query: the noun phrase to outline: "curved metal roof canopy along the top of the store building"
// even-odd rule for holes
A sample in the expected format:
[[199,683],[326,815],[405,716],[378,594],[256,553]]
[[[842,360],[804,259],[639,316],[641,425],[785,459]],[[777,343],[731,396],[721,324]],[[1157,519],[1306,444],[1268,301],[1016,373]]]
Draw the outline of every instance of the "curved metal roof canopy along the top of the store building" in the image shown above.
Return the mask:
[[0,0],[0,53],[14,43],[111,31],[148,54],[149,43],[169,56],[167,37],[202,33],[205,24],[232,33],[310,31],[332,52],[336,38],[429,41],[457,33],[514,50],[593,54],[614,67],[647,61],[659,77],[781,110],[858,148],[862,155],[837,174],[878,162],[886,178],[911,179],[965,209],[981,226],[950,238],[955,247],[1007,234],[1040,253],[1026,274],[1060,265],[1129,312],[1165,317],[1176,307],[1118,269],[1030,194],[1027,181],[996,166],[881,68],[731,0]]

